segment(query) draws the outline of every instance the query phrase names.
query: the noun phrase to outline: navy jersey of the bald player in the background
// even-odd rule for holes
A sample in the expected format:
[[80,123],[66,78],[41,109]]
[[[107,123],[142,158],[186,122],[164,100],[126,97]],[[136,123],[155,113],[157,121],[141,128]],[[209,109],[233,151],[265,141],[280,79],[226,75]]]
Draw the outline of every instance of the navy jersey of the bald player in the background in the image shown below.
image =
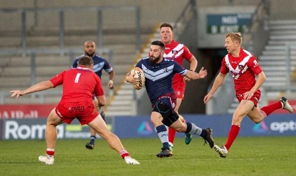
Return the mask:
[[[81,55],[78,58],[76,58],[74,60],[74,63],[72,65],[72,68],[76,68],[78,66],[78,59],[82,56],[85,55]],[[101,58],[97,55],[94,55],[94,57],[92,57],[93,59],[93,71],[95,72],[95,74],[97,74],[100,78],[102,76],[102,70],[104,69],[107,73],[110,73],[113,68],[112,66],[108,63],[108,61],[104,58]]]

